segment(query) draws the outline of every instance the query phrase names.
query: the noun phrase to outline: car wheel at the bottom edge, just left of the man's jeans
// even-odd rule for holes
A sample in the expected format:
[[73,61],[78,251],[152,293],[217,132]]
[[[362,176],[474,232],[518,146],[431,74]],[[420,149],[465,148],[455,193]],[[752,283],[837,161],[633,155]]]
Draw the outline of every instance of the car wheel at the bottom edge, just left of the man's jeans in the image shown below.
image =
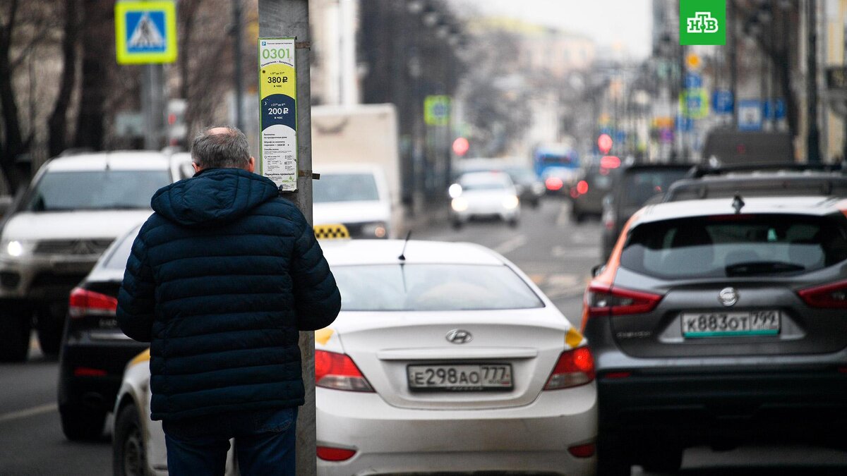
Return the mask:
[[114,422],[112,464],[115,476],[145,476],[147,451],[134,405],[122,408]]

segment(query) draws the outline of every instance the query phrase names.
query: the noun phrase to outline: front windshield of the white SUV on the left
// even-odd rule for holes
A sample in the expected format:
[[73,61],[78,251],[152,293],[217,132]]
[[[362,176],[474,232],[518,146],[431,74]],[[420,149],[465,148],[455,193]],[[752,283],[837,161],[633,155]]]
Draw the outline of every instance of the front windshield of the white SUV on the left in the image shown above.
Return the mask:
[[167,170],[47,172],[25,201],[28,212],[150,208],[153,194],[170,183]]

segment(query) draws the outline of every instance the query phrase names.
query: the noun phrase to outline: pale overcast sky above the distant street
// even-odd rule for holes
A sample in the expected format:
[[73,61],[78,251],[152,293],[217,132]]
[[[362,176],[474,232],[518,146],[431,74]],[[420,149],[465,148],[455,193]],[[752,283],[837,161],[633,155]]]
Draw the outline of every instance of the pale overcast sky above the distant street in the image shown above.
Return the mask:
[[464,0],[485,14],[504,14],[624,47],[633,59],[650,53],[651,0]]

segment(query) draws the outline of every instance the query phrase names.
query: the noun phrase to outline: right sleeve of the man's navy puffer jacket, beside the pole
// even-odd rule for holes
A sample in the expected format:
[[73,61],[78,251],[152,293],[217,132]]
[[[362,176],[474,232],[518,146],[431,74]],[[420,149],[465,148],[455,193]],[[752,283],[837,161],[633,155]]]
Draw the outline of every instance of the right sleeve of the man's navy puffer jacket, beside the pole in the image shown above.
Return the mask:
[[301,219],[302,229],[294,243],[291,260],[297,329],[323,329],[338,316],[341,295],[312,227],[302,214],[297,215]]

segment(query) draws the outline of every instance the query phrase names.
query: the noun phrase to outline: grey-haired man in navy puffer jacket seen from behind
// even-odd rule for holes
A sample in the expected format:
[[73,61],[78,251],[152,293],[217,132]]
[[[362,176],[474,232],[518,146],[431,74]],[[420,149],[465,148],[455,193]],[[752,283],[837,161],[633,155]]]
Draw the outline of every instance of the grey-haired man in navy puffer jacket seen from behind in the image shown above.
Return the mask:
[[170,474],[223,474],[230,438],[241,474],[295,474],[297,331],[335,320],[338,287],[302,213],[253,174],[240,130],[198,134],[191,159],[194,177],[152,197],[118,324],[151,343]]

